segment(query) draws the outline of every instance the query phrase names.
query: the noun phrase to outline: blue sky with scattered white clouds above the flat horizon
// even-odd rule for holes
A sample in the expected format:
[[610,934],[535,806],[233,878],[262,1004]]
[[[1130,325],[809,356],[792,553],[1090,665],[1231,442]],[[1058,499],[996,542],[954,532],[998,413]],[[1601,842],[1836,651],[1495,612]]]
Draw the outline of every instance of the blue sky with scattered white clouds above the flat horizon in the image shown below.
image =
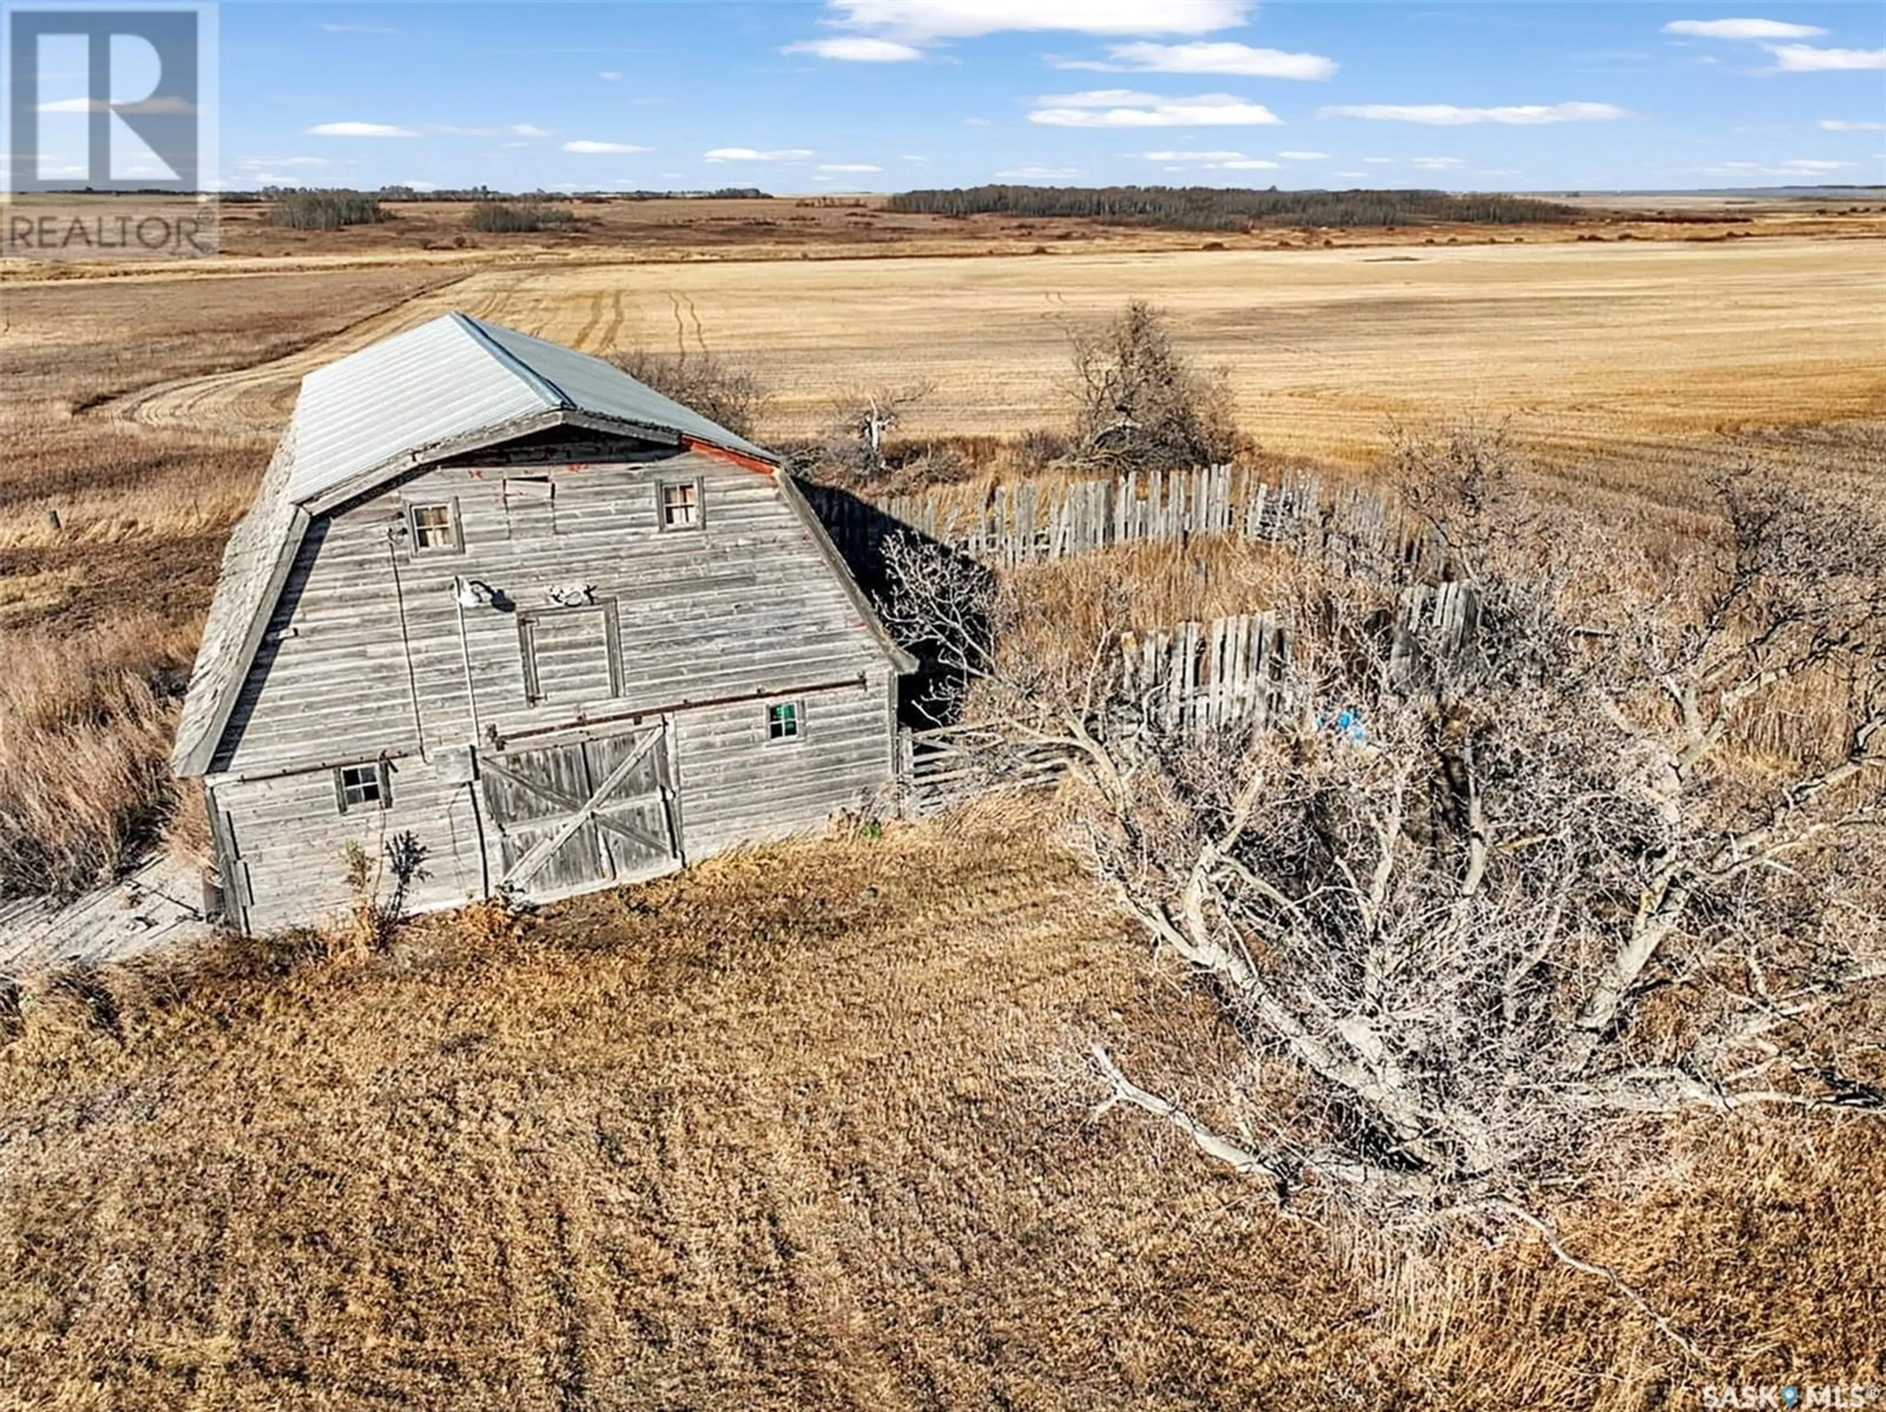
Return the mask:
[[224,185],[1886,181],[1877,4],[245,4]]

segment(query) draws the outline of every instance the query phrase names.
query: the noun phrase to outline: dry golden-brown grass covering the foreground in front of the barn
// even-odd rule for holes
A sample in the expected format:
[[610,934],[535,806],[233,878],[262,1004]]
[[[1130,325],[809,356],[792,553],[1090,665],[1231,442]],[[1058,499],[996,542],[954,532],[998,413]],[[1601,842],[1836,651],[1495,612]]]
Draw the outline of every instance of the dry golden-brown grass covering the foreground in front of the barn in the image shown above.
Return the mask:
[[[1013,811],[449,926],[26,997],[0,1046],[17,1406],[1692,1406],[1880,1380],[1860,1122],[1697,1125],[1567,1246],[1279,1218],[1079,1056],[1228,1052]],[[1162,1035],[1152,1041],[1150,1035]]]

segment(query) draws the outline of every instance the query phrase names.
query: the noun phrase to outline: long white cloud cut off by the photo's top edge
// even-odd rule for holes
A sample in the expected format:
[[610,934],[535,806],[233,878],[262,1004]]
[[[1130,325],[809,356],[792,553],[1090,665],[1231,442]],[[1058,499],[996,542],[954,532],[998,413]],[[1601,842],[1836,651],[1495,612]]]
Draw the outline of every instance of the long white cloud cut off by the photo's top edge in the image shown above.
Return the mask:
[[1250,0],[830,0],[835,23],[903,40],[973,40],[1000,30],[1211,34],[1243,25]]

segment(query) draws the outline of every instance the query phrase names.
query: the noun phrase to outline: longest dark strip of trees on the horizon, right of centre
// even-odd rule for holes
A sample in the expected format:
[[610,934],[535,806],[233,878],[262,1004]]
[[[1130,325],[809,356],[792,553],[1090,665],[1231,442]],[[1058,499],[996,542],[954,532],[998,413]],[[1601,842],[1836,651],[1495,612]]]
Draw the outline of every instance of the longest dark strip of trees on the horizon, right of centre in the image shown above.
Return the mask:
[[905,190],[886,202],[905,215],[1088,217],[1179,230],[1264,226],[1418,226],[1443,221],[1522,224],[1577,211],[1531,196],[1445,190],[1230,190],[1220,187],[956,187]]

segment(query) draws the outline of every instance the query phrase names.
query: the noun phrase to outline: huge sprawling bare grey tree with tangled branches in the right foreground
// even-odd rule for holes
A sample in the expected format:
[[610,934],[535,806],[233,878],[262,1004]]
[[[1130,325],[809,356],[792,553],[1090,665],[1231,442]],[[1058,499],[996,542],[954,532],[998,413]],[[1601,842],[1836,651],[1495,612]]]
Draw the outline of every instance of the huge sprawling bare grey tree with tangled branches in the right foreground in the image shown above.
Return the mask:
[[[1826,1024],[1886,978],[1877,509],[1745,469],[1716,543],[1656,564],[1481,439],[1411,443],[1401,471],[1437,552],[1298,566],[1264,728],[1164,730],[1086,643],[1056,671],[986,637],[956,658],[1000,703],[981,720],[1066,747],[1081,846],[1247,1041],[1209,1122],[1101,1054],[1107,1103],[1292,1203],[1522,1225],[1658,1116],[1886,1110],[1877,1026]],[[1437,564],[1467,632],[1407,613]],[[983,592],[984,630],[1017,618]],[[892,618],[956,632],[922,592]],[[1826,739],[1746,747],[1803,699]]]

